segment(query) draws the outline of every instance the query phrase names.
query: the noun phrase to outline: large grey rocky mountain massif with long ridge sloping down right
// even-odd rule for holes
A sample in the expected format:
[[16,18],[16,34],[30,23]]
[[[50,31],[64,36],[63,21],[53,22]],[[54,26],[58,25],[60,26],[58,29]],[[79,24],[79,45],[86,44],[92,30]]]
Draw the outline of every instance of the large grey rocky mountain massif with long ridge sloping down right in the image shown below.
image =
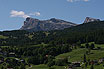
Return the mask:
[[75,23],[64,21],[61,19],[52,18],[49,20],[39,20],[28,17],[24,21],[24,25],[20,28],[20,30],[30,30],[30,31],[62,30],[76,25],[77,24]]

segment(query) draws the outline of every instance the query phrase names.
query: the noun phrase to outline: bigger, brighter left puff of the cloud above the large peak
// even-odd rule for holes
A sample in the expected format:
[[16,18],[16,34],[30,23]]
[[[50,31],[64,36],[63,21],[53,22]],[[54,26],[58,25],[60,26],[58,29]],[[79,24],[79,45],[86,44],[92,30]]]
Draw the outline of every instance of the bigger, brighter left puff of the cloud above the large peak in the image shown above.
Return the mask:
[[11,17],[22,17],[22,18],[30,17],[29,15],[25,14],[25,12],[23,11],[12,10],[10,14],[11,14]]

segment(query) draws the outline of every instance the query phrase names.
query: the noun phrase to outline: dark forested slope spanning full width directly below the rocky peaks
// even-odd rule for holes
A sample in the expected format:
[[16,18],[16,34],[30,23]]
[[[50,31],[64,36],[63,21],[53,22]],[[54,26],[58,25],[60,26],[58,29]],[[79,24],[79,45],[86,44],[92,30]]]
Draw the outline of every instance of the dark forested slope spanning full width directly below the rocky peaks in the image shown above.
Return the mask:
[[[8,36],[0,39],[0,45],[23,46],[40,43],[53,43],[54,45],[75,44],[77,42],[104,43],[104,21],[81,24],[64,30],[27,32],[22,30],[4,31],[0,35]],[[31,36],[31,38],[30,38]]]

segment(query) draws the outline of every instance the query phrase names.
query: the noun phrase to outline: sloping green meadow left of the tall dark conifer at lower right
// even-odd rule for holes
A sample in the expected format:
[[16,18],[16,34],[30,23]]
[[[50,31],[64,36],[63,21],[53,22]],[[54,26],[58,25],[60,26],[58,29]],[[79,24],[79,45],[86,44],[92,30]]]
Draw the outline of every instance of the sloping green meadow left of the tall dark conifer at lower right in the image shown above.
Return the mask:
[[56,56],[56,59],[68,58],[68,61],[70,62],[81,61],[82,56],[85,52],[86,52],[86,49],[76,49],[76,50],[73,50],[72,52],[60,54]]

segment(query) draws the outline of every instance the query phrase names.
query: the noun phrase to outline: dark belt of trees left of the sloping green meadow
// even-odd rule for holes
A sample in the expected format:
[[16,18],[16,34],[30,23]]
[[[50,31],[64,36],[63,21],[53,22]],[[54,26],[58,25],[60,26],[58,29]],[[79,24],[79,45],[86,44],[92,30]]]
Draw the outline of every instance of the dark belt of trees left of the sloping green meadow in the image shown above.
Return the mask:
[[24,47],[8,46],[0,49],[7,52],[5,57],[9,57],[9,53],[13,52],[16,58],[28,58],[27,63],[35,65],[46,64],[48,60],[53,60],[55,56],[72,51],[71,45],[54,46],[53,44]]

